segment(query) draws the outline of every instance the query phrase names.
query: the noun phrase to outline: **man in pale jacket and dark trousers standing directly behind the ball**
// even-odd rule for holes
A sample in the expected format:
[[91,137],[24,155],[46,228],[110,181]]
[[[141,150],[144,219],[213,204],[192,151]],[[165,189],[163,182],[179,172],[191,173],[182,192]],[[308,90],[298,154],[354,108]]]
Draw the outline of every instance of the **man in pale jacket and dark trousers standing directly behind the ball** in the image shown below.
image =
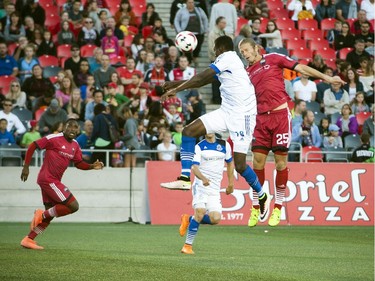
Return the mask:
[[[195,17],[190,17],[192,13],[195,14]],[[234,13],[236,13],[236,11],[234,11]],[[226,17],[226,19],[228,21],[228,17]],[[186,0],[186,7],[181,8],[176,14],[174,27],[177,33],[189,30],[197,37],[198,44],[193,51],[193,60],[195,63],[202,48],[204,34],[208,31],[208,18],[206,14],[201,8],[195,7],[194,0]]]

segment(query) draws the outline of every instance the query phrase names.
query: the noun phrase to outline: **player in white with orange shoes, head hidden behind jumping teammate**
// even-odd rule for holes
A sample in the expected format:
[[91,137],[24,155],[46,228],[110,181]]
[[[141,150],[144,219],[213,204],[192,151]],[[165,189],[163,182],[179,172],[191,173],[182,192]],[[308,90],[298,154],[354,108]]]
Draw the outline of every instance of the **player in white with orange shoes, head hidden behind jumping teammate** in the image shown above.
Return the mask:
[[181,216],[180,235],[186,240],[181,253],[194,254],[192,244],[200,224],[218,224],[221,219],[220,189],[223,171],[227,163],[228,187],[226,194],[233,192],[234,164],[229,143],[216,139],[215,134],[207,134],[195,146],[191,167],[195,180],[192,186],[194,216]]

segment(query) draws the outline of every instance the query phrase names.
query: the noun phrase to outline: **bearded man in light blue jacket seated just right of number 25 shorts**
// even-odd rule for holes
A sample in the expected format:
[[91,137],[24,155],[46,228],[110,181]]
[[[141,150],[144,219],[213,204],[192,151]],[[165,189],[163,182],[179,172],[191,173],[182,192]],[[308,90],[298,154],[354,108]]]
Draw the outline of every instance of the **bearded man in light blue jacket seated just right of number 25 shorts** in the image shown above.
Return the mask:
[[305,110],[302,113],[302,123],[293,126],[292,142],[298,142],[303,147],[321,146],[322,138],[318,126],[314,124],[314,118],[314,113],[311,110]]

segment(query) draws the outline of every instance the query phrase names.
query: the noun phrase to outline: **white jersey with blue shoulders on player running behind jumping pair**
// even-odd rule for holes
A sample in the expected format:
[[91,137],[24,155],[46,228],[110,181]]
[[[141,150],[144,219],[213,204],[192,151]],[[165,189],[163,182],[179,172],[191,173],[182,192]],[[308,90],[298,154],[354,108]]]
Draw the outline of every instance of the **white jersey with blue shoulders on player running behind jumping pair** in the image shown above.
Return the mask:
[[[210,185],[204,187],[205,189],[220,192],[224,161],[227,163],[232,161],[232,150],[228,142],[216,140],[210,143],[204,139],[195,146],[193,165],[199,165],[201,173],[210,180]],[[195,184],[203,186],[202,181],[197,177],[193,185]]]

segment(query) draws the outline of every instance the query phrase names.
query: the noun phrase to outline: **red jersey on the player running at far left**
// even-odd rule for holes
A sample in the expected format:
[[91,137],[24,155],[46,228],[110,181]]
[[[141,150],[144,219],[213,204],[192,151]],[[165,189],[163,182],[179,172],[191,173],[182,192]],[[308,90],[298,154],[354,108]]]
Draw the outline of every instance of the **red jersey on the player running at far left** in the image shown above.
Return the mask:
[[38,184],[61,181],[70,161],[82,161],[82,152],[76,140],[68,142],[63,133],[52,134],[35,141],[40,149],[45,149],[45,157],[38,175]]

